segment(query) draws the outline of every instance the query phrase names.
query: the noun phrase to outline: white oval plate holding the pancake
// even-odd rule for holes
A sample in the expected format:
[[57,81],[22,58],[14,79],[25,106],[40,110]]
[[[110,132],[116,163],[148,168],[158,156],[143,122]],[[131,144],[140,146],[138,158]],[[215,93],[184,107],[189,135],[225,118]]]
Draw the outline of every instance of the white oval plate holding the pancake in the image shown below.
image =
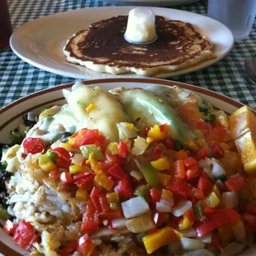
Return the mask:
[[[19,27],[12,34],[10,44],[12,50],[27,63],[71,78],[138,77],[136,74],[97,73],[79,65],[69,64],[62,51],[66,41],[74,33],[87,28],[92,22],[118,15],[127,15],[132,8],[97,7],[42,17]],[[167,19],[187,21],[200,27],[201,32],[215,44],[216,54],[215,59],[207,60],[188,69],[159,73],[155,76],[157,78],[168,78],[203,69],[225,57],[233,46],[234,38],[231,31],[219,21],[192,12],[159,7],[151,7],[151,9],[155,14]]]

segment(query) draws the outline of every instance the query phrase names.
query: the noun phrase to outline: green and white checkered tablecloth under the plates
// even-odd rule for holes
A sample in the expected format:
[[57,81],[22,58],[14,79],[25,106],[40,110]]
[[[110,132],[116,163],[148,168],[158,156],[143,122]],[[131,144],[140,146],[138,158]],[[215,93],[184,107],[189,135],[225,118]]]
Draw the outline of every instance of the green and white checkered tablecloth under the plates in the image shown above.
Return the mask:
[[[32,21],[56,12],[102,6],[111,6],[111,4],[90,0],[9,0],[14,30],[26,21]],[[177,8],[206,15],[206,0]],[[254,23],[249,38],[235,42],[233,50],[225,59],[201,71],[171,79],[223,93],[256,109],[256,88],[249,82],[244,73],[244,59],[256,57],[255,46],[256,24]],[[26,64],[10,49],[0,52],[0,107],[31,92],[73,81],[73,78],[45,72],[31,66],[31,64]]]

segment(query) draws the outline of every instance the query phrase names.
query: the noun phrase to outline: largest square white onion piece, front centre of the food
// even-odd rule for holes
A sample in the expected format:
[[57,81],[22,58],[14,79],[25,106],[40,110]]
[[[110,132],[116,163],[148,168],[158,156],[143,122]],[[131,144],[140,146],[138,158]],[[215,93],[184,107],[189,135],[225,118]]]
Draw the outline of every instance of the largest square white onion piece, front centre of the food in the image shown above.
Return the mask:
[[144,197],[134,197],[121,203],[126,219],[135,218],[149,211],[149,205]]

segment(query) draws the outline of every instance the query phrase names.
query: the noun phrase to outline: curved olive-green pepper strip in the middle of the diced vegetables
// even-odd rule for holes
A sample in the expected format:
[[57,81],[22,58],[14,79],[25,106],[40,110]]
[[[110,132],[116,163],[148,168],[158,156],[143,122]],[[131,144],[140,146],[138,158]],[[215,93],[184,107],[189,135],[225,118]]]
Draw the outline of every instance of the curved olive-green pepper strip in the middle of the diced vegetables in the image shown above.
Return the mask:
[[140,172],[144,175],[146,182],[149,184],[149,187],[157,187],[159,183],[159,172],[155,169],[150,163],[141,164],[138,161],[135,161]]

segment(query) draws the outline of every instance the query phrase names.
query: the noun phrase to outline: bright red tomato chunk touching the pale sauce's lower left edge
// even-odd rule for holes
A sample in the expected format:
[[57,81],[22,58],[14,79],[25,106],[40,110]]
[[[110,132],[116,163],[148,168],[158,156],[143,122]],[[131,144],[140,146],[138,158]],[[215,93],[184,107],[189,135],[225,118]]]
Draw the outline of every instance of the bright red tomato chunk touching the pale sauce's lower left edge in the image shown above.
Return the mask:
[[73,148],[79,149],[83,145],[94,144],[100,139],[100,132],[98,129],[82,129],[74,136]]

